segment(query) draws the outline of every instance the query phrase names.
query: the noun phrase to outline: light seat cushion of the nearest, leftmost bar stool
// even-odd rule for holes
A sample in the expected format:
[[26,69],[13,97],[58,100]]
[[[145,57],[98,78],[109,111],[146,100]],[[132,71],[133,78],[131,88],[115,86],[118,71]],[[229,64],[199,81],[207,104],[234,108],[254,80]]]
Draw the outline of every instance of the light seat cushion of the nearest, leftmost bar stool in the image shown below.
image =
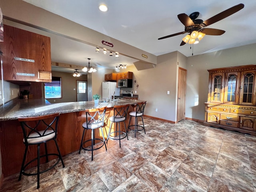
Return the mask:
[[[42,131],[38,131],[41,135],[44,133],[44,130]],[[55,132],[53,130],[47,130],[44,133],[45,136],[40,136],[37,132],[34,132],[32,134],[29,135],[29,137],[27,138],[28,143],[32,144],[32,143],[38,143],[38,142],[44,142],[47,141],[49,139],[54,138],[55,136]],[[31,137],[36,137],[36,138],[31,138]],[[25,140],[23,139],[23,142],[25,142]]]

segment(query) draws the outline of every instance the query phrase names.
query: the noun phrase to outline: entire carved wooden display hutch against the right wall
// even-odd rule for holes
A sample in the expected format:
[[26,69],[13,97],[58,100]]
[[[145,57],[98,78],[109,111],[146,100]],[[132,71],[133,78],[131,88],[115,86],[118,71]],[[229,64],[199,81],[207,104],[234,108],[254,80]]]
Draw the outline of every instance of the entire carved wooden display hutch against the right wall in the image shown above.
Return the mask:
[[256,136],[256,65],[208,72],[204,124]]

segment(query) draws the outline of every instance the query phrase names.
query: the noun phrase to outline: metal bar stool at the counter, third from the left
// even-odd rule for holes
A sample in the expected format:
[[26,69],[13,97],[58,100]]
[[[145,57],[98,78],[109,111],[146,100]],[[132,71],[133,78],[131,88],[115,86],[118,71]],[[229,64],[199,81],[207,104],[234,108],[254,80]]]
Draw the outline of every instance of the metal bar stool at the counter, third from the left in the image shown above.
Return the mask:
[[[127,116],[129,106],[130,106],[130,104],[115,105],[114,106],[114,108],[113,108],[114,115],[109,118],[111,123],[110,123],[110,126],[109,126],[107,143],[108,143],[108,139],[119,140],[119,147],[121,147],[121,139],[124,139],[124,138],[127,137],[127,140],[129,140],[128,139],[128,134],[127,134],[127,131],[126,131],[126,125],[125,125],[125,120],[126,120],[126,116]],[[125,132],[120,130],[120,122],[124,122]],[[110,133],[113,123],[116,123],[116,131],[113,131],[113,132]],[[117,123],[118,123],[118,130],[117,130]],[[117,134],[117,133],[119,134],[118,138],[116,138],[114,136],[111,136],[112,134]],[[124,136],[122,136],[122,138],[121,138],[121,133],[124,134]]]

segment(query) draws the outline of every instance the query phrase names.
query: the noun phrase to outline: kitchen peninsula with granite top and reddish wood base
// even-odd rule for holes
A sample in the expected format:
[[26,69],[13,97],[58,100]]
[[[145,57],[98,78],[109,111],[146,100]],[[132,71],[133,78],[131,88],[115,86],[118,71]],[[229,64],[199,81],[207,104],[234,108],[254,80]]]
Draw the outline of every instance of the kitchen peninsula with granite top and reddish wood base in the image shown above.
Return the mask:
[[[109,129],[108,118],[112,115],[114,105],[130,104],[129,111],[133,110],[133,105],[142,102],[142,100],[120,99],[117,102],[100,102],[94,104],[94,101],[66,102],[50,104],[45,99],[15,99],[0,107],[0,142],[2,155],[2,172],[4,176],[9,176],[20,171],[22,157],[24,153],[24,144],[22,144],[23,134],[18,122],[18,117],[33,117],[47,114],[60,113],[57,142],[62,155],[70,154],[79,149],[82,138],[82,124],[86,121],[85,110],[89,108],[101,108],[107,106],[106,111],[106,129],[104,136],[107,137]],[[129,117],[126,124],[128,125]],[[114,126],[113,126],[114,127]],[[124,129],[124,127],[122,127]],[[96,132],[96,135],[100,134]],[[86,135],[85,140],[90,137]],[[34,148],[33,148],[34,147]],[[48,153],[54,153],[54,146],[49,146]],[[44,150],[44,148],[42,148]],[[29,158],[36,155],[36,146],[32,146],[29,152]],[[36,164],[35,164],[36,165]],[[35,166],[34,165],[34,166]]]

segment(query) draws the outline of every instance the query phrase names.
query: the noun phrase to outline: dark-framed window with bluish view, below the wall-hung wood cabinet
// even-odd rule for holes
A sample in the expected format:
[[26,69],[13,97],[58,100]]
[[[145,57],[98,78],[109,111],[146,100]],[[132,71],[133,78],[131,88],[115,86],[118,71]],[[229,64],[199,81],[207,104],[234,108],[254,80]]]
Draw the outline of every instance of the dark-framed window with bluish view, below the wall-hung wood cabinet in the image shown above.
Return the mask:
[[61,98],[61,77],[52,77],[52,82],[44,84],[44,98]]

